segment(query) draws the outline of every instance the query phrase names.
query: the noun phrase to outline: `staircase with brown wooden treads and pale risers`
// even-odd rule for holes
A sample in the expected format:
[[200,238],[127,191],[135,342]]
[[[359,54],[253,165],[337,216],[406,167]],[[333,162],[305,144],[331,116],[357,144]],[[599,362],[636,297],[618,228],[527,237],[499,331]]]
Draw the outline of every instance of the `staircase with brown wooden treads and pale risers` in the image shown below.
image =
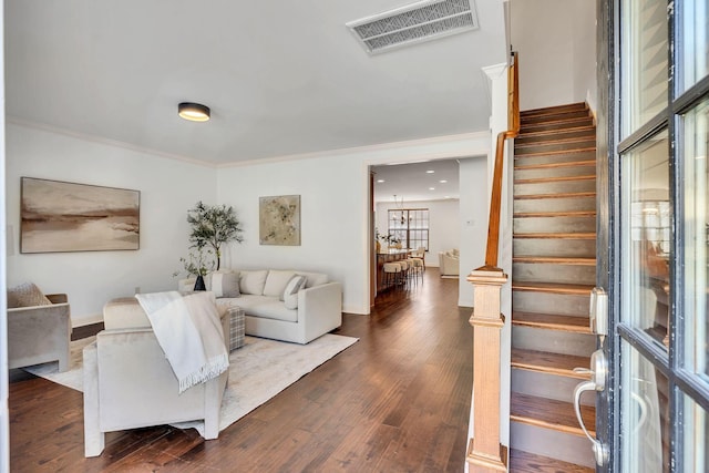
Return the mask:
[[[514,151],[511,471],[595,471],[574,387],[595,338],[596,130],[585,104],[522,112]],[[595,430],[595,399],[582,413]]]

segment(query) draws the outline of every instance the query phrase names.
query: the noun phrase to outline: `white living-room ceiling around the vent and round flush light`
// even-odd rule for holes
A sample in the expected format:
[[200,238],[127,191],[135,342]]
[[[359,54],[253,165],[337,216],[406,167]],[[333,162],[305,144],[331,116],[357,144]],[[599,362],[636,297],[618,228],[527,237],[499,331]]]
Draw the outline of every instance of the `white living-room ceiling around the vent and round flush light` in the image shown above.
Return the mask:
[[[215,165],[486,130],[502,2],[475,2],[479,30],[374,56],[345,25],[408,3],[6,0],[6,113]],[[212,120],[178,119],[183,101]]]

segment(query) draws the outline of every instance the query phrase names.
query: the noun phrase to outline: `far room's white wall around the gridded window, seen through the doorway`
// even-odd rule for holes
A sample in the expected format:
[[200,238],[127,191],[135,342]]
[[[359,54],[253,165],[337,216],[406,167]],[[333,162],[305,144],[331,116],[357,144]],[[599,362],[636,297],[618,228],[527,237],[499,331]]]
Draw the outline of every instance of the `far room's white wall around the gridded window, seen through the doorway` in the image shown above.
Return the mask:
[[[439,266],[439,251],[460,248],[460,202],[451,200],[412,200],[404,202],[405,208],[429,209],[429,251],[425,254],[425,266]],[[377,228],[387,234],[389,209],[397,208],[393,202],[377,204]]]

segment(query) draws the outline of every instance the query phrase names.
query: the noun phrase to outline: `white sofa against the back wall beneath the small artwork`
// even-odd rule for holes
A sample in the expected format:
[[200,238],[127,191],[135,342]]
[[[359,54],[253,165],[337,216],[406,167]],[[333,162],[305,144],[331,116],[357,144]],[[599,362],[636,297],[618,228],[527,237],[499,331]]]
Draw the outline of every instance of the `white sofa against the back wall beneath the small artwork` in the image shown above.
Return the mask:
[[[302,276],[305,285],[287,305],[282,295],[296,276]],[[219,285],[213,284],[215,278],[222,279]],[[244,309],[246,335],[305,345],[342,325],[342,286],[330,282],[322,273],[227,269],[207,275],[205,279],[207,290],[216,294],[220,309],[230,306]],[[229,287],[236,281],[238,289]],[[183,279],[178,289],[189,291],[194,284],[194,278]]]

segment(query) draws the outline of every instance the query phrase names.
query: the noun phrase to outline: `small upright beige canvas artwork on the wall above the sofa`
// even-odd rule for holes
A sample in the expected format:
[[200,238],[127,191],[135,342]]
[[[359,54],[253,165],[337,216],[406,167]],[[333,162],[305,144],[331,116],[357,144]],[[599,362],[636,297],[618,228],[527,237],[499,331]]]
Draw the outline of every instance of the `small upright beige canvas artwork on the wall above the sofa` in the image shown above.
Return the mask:
[[300,245],[300,196],[259,198],[259,241],[261,245]]

